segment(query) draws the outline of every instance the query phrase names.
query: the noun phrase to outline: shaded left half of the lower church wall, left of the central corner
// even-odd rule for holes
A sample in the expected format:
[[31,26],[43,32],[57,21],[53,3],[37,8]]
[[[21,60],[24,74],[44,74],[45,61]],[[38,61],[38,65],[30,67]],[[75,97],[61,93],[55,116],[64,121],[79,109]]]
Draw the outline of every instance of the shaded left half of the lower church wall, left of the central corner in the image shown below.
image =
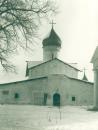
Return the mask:
[[46,78],[38,80],[29,80],[24,82],[1,84],[0,103],[42,105],[44,86],[46,86]]

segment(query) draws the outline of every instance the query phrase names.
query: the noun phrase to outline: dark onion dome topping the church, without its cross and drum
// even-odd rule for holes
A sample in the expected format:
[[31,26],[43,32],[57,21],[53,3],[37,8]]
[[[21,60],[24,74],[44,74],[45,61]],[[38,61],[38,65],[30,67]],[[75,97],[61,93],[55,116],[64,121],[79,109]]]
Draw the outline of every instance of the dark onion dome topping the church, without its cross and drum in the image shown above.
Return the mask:
[[53,27],[52,27],[48,37],[46,37],[43,40],[43,46],[50,46],[50,45],[61,47],[61,39],[56,34]]

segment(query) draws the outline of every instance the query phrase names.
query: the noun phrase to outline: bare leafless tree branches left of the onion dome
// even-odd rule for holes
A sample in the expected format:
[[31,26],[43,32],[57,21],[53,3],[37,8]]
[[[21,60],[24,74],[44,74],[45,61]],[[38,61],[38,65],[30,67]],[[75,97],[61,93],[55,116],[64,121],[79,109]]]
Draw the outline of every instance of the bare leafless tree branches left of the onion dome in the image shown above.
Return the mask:
[[50,0],[0,0],[0,62],[6,70],[13,67],[8,55],[18,46],[29,48],[41,19],[53,12]]

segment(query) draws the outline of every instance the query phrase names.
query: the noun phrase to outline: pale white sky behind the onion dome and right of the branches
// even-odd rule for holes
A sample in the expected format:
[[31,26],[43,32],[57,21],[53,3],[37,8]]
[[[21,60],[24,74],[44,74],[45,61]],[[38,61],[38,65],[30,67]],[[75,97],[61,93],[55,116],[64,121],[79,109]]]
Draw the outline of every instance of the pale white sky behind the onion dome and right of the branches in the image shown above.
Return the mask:
[[[89,80],[93,80],[91,57],[98,44],[98,2],[97,0],[56,0],[59,13],[54,22],[55,31],[62,40],[59,58],[68,63],[78,63],[78,67],[87,69]],[[50,21],[52,18],[50,18]],[[49,33],[51,25],[43,23],[41,40]],[[18,66],[18,74],[1,74],[1,82],[24,78],[26,60],[40,60],[42,58],[41,41],[34,46],[32,54],[13,56],[13,62]],[[81,75],[81,74],[80,74]],[[82,75],[83,76],[83,75]]]

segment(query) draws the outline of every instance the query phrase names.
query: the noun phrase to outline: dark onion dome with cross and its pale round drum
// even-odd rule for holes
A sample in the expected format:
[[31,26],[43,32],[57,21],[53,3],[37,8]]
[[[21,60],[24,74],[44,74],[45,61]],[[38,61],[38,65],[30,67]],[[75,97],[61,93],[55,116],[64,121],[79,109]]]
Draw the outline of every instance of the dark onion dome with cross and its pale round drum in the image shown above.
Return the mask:
[[48,37],[46,37],[42,44],[43,44],[43,60],[44,61],[48,61],[48,60],[52,60],[54,58],[58,57],[58,52],[61,49],[61,40],[59,38],[59,36],[56,34],[56,32],[54,31],[54,27],[53,27],[53,21],[52,21],[52,28],[51,31],[48,35]]

